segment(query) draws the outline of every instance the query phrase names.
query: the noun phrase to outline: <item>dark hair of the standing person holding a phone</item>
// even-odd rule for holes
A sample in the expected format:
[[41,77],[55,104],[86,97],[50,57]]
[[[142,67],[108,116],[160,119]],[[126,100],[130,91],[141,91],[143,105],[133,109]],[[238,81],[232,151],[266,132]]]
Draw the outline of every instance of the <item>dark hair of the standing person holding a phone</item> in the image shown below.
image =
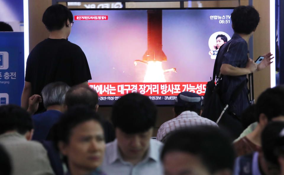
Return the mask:
[[259,23],[259,13],[253,6],[238,6],[231,14],[235,33],[250,34]]

